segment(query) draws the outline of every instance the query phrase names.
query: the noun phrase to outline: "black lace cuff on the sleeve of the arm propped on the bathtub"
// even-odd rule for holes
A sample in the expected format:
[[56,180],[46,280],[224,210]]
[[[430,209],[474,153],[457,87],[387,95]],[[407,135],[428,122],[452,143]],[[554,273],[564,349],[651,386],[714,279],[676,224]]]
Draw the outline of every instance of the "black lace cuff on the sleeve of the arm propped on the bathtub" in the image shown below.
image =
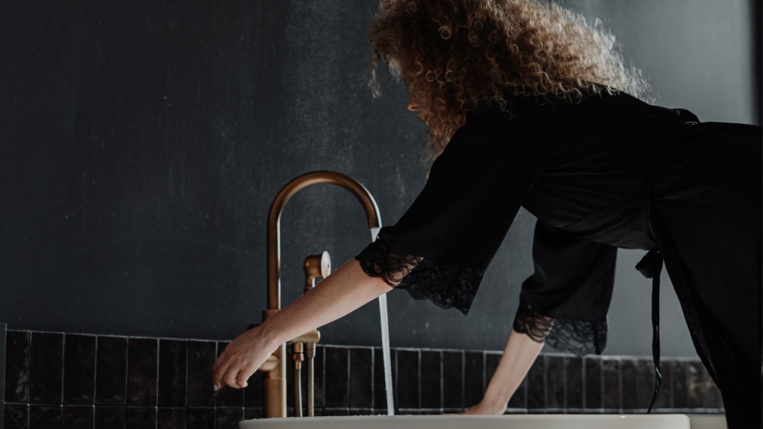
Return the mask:
[[601,354],[604,347],[607,347],[607,316],[593,322],[555,319],[536,312],[521,294],[513,328],[514,331],[528,335],[533,341],[545,341],[555,350],[575,356]]

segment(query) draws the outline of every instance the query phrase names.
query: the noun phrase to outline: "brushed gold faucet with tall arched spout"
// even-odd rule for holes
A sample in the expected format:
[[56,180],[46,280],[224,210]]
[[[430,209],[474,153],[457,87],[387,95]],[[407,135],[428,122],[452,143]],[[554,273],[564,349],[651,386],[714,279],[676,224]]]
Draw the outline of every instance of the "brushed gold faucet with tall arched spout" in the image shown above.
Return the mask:
[[[360,201],[365,210],[369,229],[381,227],[381,215],[379,214],[376,201],[369,190],[353,178],[337,171],[318,170],[310,171],[291,179],[278,194],[275,195],[268,213],[268,309],[262,310],[262,320],[269,318],[281,309],[281,213],[286,202],[299,190],[313,184],[329,183],[338,184],[349,190]],[[326,252],[324,252],[326,253]],[[309,257],[308,257],[309,258]],[[307,274],[307,260],[305,261]],[[307,291],[307,287],[305,288]],[[292,339],[292,344],[307,343],[308,356],[312,352],[310,344],[320,340],[317,329]],[[288,341],[289,342],[289,341]],[[301,348],[298,346],[297,350]],[[258,371],[263,373],[263,393],[265,407],[262,410],[265,418],[277,418],[286,416],[286,343],[278,346]],[[308,386],[309,389],[309,386]],[[297,404],[295,403],[295,406]]]

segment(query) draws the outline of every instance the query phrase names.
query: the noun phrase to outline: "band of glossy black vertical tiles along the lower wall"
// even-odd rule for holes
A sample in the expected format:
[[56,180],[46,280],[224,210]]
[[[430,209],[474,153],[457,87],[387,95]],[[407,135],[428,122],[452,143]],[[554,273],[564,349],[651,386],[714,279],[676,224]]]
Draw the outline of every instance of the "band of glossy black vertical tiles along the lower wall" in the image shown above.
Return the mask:
[[[246,389],[211,395],[211,366],[226,341],[8,331],[6,343],[6,429],[237,428],[262,417],[261,373]],[[395,414],[441,414],[482,399],[501,352],[397,348],[391,357]],[[380,347],[318,344],[315,368],[316,415],[386,414]],[[723,412],[699,360],[664,359],[661,369],[655,412]],[[294,374],[286,373],[293,416]],[[507,413],[645,412],[653,383],[647,357],[540,354]]]

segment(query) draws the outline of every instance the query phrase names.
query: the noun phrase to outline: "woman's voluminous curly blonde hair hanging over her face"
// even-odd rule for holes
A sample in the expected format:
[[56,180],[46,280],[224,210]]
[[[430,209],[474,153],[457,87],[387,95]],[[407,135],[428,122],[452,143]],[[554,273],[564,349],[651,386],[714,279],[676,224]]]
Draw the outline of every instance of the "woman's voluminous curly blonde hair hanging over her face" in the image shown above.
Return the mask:
[[619,91],[645,98],[642,72],[626,67],[620,45],[600,20],[588,24],[547,0],[381,0],[366,38],[374,56],[364,75],[378,98],[378,62],[407,85],[437,158],[469,110],[507,98],[548,95],[576,104],[587,94]]

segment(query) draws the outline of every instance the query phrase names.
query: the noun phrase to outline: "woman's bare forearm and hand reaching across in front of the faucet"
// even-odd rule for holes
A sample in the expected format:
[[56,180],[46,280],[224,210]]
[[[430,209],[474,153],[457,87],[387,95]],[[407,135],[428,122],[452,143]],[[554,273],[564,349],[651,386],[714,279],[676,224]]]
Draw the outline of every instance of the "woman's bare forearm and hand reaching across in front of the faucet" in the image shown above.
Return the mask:
[[381,277],[370,277],[350,259],[316,287],[281,311],[230,341],[212,366],[214,389],[246,387],[246,380],[278,345],[353,312],[392,290]]

